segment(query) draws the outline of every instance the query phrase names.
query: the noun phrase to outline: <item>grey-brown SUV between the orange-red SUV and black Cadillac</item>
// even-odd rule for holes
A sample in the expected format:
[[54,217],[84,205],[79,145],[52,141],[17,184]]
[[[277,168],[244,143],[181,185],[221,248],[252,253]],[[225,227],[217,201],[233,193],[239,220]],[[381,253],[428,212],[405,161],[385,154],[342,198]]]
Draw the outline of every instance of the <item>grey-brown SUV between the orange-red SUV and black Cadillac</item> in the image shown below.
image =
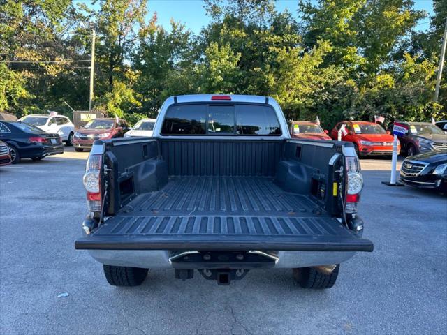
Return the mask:
[[[396,123],[409,128],[405,135],[399,136],[402,154],[414,156],[427,151],[447,149],[447,134],[430,122],[396,121]],[[393,129],[393,124],[390,124],[390,129]]]

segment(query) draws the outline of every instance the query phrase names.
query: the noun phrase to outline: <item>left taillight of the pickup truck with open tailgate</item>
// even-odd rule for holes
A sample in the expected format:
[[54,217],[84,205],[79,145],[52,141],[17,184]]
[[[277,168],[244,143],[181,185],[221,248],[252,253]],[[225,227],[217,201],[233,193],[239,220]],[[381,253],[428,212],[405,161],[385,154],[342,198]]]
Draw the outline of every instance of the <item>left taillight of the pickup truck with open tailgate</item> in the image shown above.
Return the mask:
[[89,211],[101,211],[101,161],[102,155],[91,155],[85,166],[82,178],[87,191],[87,207]]

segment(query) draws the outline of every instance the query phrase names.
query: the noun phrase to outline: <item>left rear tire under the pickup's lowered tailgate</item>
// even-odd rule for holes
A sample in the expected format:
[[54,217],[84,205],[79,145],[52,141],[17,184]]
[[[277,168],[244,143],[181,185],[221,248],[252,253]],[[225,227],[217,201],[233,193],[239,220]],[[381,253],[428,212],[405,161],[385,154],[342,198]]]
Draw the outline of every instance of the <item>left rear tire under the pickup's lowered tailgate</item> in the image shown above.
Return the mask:
[[149,269],[140,267],[115,267],[103,265],[105,278],[113,286],[138,286],[147,276]]

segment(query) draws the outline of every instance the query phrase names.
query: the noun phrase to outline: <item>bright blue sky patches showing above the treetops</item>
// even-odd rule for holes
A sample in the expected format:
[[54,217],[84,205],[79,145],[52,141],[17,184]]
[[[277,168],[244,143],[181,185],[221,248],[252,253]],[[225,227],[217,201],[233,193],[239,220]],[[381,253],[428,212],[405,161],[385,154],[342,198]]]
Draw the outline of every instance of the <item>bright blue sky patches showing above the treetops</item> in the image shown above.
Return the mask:
[[[432,0],[413,0],[416,9],[426,10],[429,15],[433,13]],[[298,9],[298,0],[277,0],[277,9],[288,9],[295,14]],[[201,0],[148,0],[149,16],[157,13],[159,23],[163,27],[170,27],[171,17],[175,21],[186,24],[186,27],[194,33],[198,33],[210,18],[205,15],[203,2]],[[418,24],[418,30],[426,30],[430,27],[429,19],[423,19]]]

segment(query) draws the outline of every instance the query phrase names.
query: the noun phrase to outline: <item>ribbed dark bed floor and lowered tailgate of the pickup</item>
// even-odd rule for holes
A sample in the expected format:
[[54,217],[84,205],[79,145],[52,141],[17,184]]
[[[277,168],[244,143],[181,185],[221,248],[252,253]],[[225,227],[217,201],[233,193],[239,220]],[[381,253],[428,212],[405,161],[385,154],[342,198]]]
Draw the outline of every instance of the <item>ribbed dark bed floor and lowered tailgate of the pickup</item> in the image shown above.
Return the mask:
[[78,249],[372,251],[305,195],[272,177],[170,177],[108,218]]

